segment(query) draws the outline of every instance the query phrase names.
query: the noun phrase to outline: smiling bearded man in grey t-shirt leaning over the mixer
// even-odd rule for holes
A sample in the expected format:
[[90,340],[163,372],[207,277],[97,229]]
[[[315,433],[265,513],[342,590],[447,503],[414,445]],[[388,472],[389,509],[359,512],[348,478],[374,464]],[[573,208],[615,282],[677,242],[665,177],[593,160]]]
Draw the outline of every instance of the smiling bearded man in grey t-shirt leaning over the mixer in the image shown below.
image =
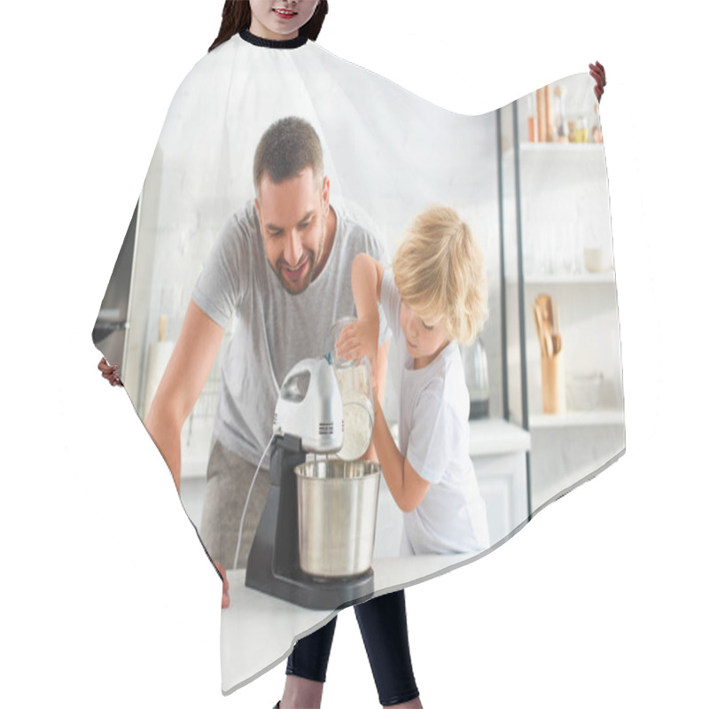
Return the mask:
[[[226,568],[234,564],[246,495],[269,442],[279,386],[301,359],[325,354],[332,323],[355,315],[350,279],[357,253],[386,261],[372,231],[331,206],[322,146],[307,121],[284,118],[264,133],[253,185],[255,199],[232,214],[207,258],[145,420],[179,489],[180,432],[233,322],[200,529],[206,550]],[[385,327],[379,391],[386,378]],[[269,476],[261,472],[238,566],[245,566],[268,490]]]

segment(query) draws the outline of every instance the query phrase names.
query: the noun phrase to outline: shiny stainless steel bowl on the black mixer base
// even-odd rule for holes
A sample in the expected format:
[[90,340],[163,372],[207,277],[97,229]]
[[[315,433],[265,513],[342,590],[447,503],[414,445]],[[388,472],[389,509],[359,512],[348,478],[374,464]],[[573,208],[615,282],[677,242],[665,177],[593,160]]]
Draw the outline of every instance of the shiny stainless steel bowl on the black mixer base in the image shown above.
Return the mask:
[[368,571],[381,467],[337,459],[297,465],[300,568],[313,576]]

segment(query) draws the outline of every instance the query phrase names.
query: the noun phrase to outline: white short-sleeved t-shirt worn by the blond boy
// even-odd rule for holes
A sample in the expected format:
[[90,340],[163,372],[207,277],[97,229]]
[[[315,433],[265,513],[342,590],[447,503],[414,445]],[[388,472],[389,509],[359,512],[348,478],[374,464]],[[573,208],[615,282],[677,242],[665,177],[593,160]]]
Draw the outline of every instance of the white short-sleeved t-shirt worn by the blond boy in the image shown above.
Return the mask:
[[487,512],[469,452],[470,397],[460,348],[452,341],[428,366],[414,370],[391,269],[384,273],[380,300],[399,353],[399,449],[431,483],[417,509],[404,513],[401,552],[483,551],[490,543]]

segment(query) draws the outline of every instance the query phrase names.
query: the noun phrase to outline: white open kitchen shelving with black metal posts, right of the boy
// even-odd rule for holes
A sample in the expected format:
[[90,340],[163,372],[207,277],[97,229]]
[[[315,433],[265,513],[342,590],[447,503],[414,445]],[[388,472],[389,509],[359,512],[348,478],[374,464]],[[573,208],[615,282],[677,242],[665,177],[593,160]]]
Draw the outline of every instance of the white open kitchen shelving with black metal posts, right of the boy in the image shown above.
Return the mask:
[[[585,74],[549,87],[565,114],[596,120]],[[498,113],[509,419],[530,433],[529,508],[538,510],[625,449],[618,299],[602,143],[532,142],[532,95]],[[557,116],[555,117],[556,121]],[[587,131],[591,136],[592,130]],[[573,131],[567,131],[573,135]],[[554,303],[561,401],[544,401],[534,323]],[[557,311],[557,312],[556,312]]]

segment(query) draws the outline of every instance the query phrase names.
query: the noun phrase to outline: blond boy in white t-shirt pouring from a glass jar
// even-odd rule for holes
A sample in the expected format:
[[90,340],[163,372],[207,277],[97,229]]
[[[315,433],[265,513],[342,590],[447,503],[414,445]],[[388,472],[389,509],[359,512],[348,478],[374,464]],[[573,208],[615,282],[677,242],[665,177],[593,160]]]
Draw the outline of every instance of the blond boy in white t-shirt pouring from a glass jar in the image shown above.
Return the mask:
[[477,553],[489,546],[485,503],[469,454],[458,343],[487,318],[482,252],[453,209],[420,214],[385,269],[367,254],[352,266],[357,323],[339,354],[376,370],[380,302],[399,356],[399,446],[375,395],[373,440],[386,485],[404,512],[404,554]]

